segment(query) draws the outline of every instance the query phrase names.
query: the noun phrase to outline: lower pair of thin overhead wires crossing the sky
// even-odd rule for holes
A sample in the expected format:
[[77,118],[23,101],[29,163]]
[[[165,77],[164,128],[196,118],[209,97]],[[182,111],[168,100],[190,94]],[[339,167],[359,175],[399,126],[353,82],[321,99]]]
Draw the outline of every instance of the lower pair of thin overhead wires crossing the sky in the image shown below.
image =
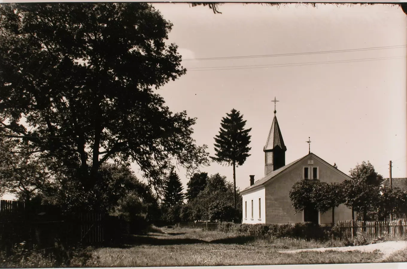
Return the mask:
[[406,56],[364,58],[364,59],[322,61],[322,62],[308,62],[308,63],[282,63],[282,64],[270,64],[270,65],[191,67],[191,68],[187,68],[187,70],[190,72],[193,72],[193,71],[214,71],[214,70],[235,70],[235,69],[236,70],[237,69],[257,69],[257,68],[289,67],[289,66],[303,66],[303,65],[322,65],[322,64],[330,64],[330,63],[355,63],[355,62],[367,62],[367,61],[383,61],[383,60],[389,60],[389,59],[402,59],[402,58],[406,58]]

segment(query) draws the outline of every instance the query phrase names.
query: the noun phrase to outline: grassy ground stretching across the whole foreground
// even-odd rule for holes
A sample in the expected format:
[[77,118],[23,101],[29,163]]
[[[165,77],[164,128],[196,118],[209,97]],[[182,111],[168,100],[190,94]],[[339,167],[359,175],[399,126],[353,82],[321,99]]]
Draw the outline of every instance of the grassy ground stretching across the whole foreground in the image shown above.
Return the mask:
[[[341,247],[343,241],[305,241],[288,238],[255,239],[241,234],[197,229],[152,229],[148,234],[119,239],[116,246],[73,248],[44,255],[38,252],[10,257],[0,252],[0,268],[158,267],[220,265],[288,265],[378,262],[381,252],[298,252],[282,250]],[[407,262],[407,249],[381,262]]]

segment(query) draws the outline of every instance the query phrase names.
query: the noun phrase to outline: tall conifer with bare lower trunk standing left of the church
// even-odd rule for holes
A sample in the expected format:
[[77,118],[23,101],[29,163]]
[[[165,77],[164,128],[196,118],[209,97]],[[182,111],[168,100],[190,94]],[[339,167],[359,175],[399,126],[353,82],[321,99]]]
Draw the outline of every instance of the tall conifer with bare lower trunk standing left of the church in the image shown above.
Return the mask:
[[233,108],[230,112],[222,118],[219,134],[214,137],[216,156],[211,158],[217,163],[233,165],[233,206],[236,208],[236,166],[243,165],[250,156],[252,148],[248,146],[252,128],[245,129],[246,121],[239,111]]

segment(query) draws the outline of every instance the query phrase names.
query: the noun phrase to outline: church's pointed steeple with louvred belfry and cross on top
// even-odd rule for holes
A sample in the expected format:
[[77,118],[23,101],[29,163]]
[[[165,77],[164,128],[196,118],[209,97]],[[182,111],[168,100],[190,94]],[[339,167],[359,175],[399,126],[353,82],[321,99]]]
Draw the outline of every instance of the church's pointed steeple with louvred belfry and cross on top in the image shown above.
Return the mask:
[[276,117],[276,102],[279,101],[274,98],[271,102],[274,102],[274,119],[263,149],[265,154],[265,176],[285,165],[285,152],[287,151]]

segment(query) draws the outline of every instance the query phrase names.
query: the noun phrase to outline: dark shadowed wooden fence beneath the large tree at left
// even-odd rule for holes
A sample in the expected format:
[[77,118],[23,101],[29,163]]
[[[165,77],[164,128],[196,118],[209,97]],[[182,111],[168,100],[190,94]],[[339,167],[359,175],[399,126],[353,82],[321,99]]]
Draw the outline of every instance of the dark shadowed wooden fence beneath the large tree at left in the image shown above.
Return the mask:
[[24,242],[27,249],[60,243],[99,245],[106,240],[108,216],[93,212],[61,212],[56,206],[30,206],[0,200],[0,247]]

